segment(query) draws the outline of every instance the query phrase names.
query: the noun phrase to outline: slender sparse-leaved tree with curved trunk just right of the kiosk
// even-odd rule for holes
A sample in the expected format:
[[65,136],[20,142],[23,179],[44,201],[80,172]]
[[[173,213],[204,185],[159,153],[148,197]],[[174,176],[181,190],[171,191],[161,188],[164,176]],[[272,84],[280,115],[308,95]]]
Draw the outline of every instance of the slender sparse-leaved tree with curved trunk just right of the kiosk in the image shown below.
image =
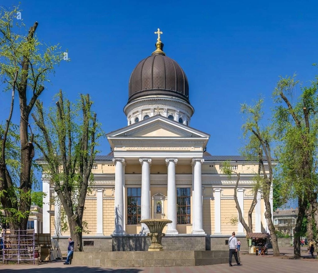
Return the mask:
[[[255,139],[257,139],[257,143],[259,143],[259,149],[261,152],[259,153],[259,164],[261,168],[260,176],[259,176],[259,187],[263,192],[263,198],[265,203],[265,218],[267,221],[267,226],[271,235],[271,242],[273,245],[273,253],[274,256],[280,256],[278,244],[277,244],[277,236],[275,234],[275,228],[272,221],[272,207],[270,204],[271,198],[271,187],[273,185],[273,168],[274,162],[271,156],[271,146],[270,143],[272,141],[271,136],[271,128],[265,127],[262,128],[259,123],[262,121],[263,111],[262,111],[263,99],[259,99],[253,106],[242,104],[241,112],[244,114],[245,123],[242,126],[243,136],[246,138],[247,136],[253,135]],[[257,147],[253,145],[254,149]],[[266,171],[263,154],[267,161]]]

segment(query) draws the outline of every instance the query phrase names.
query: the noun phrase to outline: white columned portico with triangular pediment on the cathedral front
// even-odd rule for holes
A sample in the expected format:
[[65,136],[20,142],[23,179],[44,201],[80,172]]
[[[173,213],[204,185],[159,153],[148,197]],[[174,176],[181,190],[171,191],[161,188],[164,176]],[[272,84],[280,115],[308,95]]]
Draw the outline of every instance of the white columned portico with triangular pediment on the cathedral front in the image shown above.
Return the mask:
[[[158,136],[159,131],[161,136]],[[154,217],[154,214],[151,213],[154,211],[154,204],[151,204],[151,192],[154,192],[156,187],[158,188],[155,176],[160,174],[161,177],[164,176],[164,184],[166,185],[166,190],[163,190],[164,193],[160,192],[165,196],[164,202],[166,203],[166,206],[162,208],[161,215],[164,219],[172,221],[171,224],[168,224],[165,233],[167,235],[179,233],[177,229],[177,225],[179,224],[177,215],[179,215],[179,219],[181,219],[180,217],[188,219],[182,220],[181,222],[179,221],[180,224],[192,224],[193,228],[191,233],[205,234],[202,215],[201,164],[204,162],[203,151],[209,139],[208,134],[171,121],[161,115],[156,115],[142,122],[112,132],[107,135],[107,138],[114,151],[115,235],[127,233],[127,231],[124,230],[124,225],[128,223],[124,223],[123,219],[127,213],[128,215],[130,214],[128,208],[123,206],[125,196],[127,196],[127,188],[129,187],[122,183],[123,176],[125,177],[129,174],[123,174],[123,163],[126,164],[126,169],[129,169],[129,172],[133,173],[139,172],[139,168],[136,166],[138,163],[141,166],[141,181],[138,183],[141,185],[141,196],[140,204],[138,204],[137,200],[137,210],[134,211],[137,215],[137,221],[135,221],[134,218],[134,224],[138,224],[142,219]],[[154,140],[156,143],[154,143]],[[137,143],[142,143],[142,145],[138,145]],[[137,157],[137,154],[140,156]],[[133,166],[135,166],[135,171],[133,171]],[[166,169],[164,169],[164,166]],[[180,168],[177,171],[179,173],[176,174],[177,166]],[[193,168],[191,166],[193,166]],[[178,204],[176,176],[180,175],[180,172],[191,176],[193,187],[189,185],[187,188],[191,189],[193,195],[190,194],[190,199],[180,196],[180,204]],[[152,177],[154,180],[151,179]],[[152,191],[150,190],[151,187],[153,187]],[[129,197],[127,198],[129,199]],[[139,197],[137,197],[137,199],[138,198]],[[183,199],[187,199],[186,202],[188,203],[181,205],[181,202],[184,201]],[[139,205],[140,220],[138,219]],[[179,213],[184,214],[178,214],[178,206],[182,206],[179,209]],[[192,214],[195,216],[192,216]],[[140,233],[145,234],[148,232],[147,226],[142,224]]]

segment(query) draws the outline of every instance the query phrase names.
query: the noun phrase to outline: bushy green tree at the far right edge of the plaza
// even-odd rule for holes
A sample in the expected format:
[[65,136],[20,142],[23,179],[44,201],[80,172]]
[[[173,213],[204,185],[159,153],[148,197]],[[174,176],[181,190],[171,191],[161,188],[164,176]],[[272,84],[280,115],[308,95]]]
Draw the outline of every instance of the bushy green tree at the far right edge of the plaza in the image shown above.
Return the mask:
[[[300,236],[308,202],[317,220],[318,78],[311,86],[302,87],[293,77],[280,77],[273,96],[275,137],[279,141],[279,176],[283,198],[297,198],[299,213],[294,232],[294,257],[300,258]],[[296,99],[297,90],[301,96]],[[316,217],[315,217],[316,215]],[[318,222],[316,221],[316,225]]]

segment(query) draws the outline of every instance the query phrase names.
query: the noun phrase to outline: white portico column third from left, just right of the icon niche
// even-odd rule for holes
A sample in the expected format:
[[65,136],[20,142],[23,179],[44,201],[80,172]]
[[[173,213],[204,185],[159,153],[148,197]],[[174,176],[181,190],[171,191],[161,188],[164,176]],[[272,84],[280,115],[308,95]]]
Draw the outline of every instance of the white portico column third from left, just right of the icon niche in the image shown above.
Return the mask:
[[166,165],[168,167],[168,186],[167,199],[168,211],[167,219],[172,223],[168,224],[166,234],[178,234],[177,231],[177,195],[176,195],[176,164],[177,158],[166,158]]

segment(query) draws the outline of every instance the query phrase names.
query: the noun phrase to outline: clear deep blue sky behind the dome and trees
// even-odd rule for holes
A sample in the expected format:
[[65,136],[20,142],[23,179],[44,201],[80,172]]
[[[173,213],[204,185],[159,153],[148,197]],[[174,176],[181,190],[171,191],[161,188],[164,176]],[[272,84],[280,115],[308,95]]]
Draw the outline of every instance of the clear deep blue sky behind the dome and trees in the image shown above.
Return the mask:
[[[30,0],[20,5],[28,28],[38,21],[38,39],[60,43],[71,59],[56,68],[41,100],[48,105],[59,89],[73,101],[89,93],[105,132],[127,125],[123,107],[130,74],[155,50],[154,32],[160,28],[165,53],[189,80],[191,127],[211,135],[207,150],[213,155],[239,154],[240,103],[263,94],[269,113],[279,75],[296,72],[304,84],[314,78],[317,7],[317,1]],[[1,96],[4,120],[9,102]],[[107,139],[99,149],[110,151]]]

